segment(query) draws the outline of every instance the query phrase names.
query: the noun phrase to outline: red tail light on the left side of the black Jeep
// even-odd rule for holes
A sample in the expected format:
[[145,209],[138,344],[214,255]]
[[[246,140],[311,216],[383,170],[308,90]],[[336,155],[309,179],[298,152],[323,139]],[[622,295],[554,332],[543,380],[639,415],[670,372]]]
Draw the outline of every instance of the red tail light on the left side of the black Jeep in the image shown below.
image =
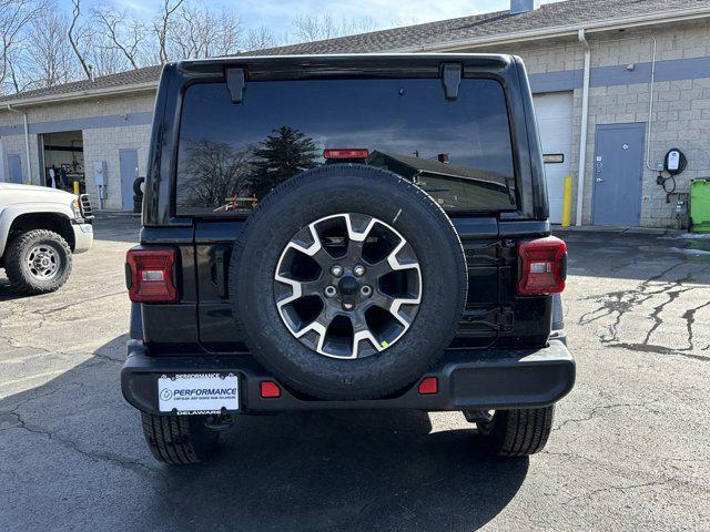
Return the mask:
[[135,303],[174,303],[174,249],[129,249],[125,255],[125,284]]

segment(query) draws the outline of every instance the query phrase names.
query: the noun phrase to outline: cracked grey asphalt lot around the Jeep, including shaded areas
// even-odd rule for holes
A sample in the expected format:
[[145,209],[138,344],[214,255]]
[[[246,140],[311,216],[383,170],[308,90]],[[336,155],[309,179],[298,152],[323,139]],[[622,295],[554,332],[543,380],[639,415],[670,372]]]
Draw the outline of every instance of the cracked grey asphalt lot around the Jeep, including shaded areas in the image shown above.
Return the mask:
[[353,411],[240,418],[174,468],[119,386],[139,224],[98,219],[55,294],[0,274],[0,530],[710,530],[710,239],[564,234],[578,381],[529,459],[457,412]]

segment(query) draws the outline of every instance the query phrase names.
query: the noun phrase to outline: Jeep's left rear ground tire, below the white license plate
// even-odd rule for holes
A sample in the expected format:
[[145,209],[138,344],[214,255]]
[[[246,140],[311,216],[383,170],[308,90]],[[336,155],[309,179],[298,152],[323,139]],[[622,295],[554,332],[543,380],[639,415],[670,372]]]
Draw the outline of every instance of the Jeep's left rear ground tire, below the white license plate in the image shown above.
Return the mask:
[[141,412],[143,436],[156,460],[175,466],[207,460],[219,432],[205,426],[202,416],[152,416]]

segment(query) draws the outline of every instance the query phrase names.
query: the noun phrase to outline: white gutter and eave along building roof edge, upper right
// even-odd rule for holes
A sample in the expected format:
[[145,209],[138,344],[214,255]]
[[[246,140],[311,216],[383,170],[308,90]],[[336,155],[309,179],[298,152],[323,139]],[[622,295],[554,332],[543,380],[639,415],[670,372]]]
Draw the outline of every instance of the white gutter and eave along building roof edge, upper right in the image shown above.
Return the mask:
[[645,13],[632,17],[620,17],[617,19],[606,19],[576,24],[556,25],[539,28],[535,30],[518,31],[497,35],[480,37],[475,39],[462,39],[457,41],[446,41],[434,44],[423,44],[415,47],[400,47],[393,49],[393,52],[445,52],[462,50],[465,48],[477,48],[490,44],[509,44],[521,41],[537,41],[552,38],[577,37],[579,30],[585,30],[587,34],[601,33],[605,31],[622,30],[630,28],[643,28],[656,25],[659,22],[665,24],[672,22],[687,22],[710,17],[710,6],[692,9],[677,9]]

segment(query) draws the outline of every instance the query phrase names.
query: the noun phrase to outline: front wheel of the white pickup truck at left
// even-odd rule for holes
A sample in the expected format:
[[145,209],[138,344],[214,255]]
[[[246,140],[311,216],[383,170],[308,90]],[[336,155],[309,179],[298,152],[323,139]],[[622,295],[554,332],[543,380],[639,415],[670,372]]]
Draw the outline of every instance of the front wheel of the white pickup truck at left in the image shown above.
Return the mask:
[[10,242],[4,269],[10,284],[21,293],[54,291],[71,274],[71,249],[52,231],[29,231]]

